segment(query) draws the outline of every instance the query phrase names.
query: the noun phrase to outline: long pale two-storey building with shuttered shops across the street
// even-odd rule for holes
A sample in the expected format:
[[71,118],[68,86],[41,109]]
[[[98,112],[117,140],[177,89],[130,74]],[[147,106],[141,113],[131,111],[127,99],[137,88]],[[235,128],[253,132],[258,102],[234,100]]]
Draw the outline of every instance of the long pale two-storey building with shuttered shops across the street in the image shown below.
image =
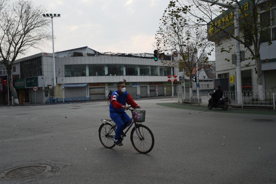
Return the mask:
[[[155,62],[153,54],[147,53],[99,53],[88,47],[56,52],[56,92],[53,92],[52,53],[17,59],[13,65],[13,83],[20,103],[49,103],[55,97],[60,102],[63,99],[65,102],[107,99],[109,90],[117,90],[117,82],[124,80],[132,98],[137,94],[142,98],[171,96],[172,86],[174,94],[184,91],[183,81],[179,81],[182,72],[164,66],[160,61]],[[171,72],[178,75],[173,85],[167,81]],[[204,71],[201,74],[204,79]],[[38,88],[36,91],[34,86]],[[189,87],[190,83],[186,84],[186,92]],[[196,90],[196,86],[194,88]],[[2,103],[4,98],[7,101],[7,91],[2,95],[0,92],[0,103],[1,98]]]

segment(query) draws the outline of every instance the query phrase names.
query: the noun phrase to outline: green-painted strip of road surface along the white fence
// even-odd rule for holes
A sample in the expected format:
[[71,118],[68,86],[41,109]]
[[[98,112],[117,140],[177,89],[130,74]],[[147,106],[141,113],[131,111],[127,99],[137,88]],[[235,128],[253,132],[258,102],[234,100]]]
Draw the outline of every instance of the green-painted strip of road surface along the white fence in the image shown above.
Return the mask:
[[177,109],[197,110],[197,111],[204,111],[204,112],[276,115],[276,111],[272,111],[272,110],[257,110],[257,109],[248,110],[248,109],[229,109],[229,108],[227,110],[222,110],[221,108],[217,108],[217,109],[213,108],[212,110],[209,110],[207,107],[204,107],[204,106],[184,105],[176,102],[156,103],[156,104],[166,106],[166,107],[177,108]]

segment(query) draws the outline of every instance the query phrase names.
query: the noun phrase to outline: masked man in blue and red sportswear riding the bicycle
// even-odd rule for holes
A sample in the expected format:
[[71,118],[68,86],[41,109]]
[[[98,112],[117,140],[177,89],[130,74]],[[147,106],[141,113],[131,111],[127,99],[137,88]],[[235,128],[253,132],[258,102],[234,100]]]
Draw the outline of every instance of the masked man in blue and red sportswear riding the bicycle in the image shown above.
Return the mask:
[[115,140],[114,143],[118,146],[122,146],[122,142],[119,140],[119,137],[123,133],[123,130],[126,128],[128,122],[131,118],[125,112],[127,109],[126,103],[131,105],[132,108],[140,105],[136,104],[130,94],[125,90],[125,83],[120,81],[117,83],[116,91],[113,91],[111,94],[111,103],[109,105],[109,116],[117,125]]

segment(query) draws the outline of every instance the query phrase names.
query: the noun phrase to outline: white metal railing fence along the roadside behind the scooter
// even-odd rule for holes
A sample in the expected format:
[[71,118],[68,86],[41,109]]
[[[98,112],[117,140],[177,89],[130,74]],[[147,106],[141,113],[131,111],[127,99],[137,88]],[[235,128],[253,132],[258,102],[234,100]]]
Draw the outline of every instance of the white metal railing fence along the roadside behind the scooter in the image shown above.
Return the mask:
[[[210,92],[193,92],[190,95],[190,92],[186,93],[177,93],[174,95],[174,98],[178,98],[178,102],[186,103],[208,103],[208,100],[211,98],[209,95]],[[243,93],[238,94],[237,91],[224,91],[223,96],[228,97],[229,105],[239,105],[238,95],[241,98],[241,106],[267,106],[273,107],[275,110],[275,99],[276,91],[264,90],[262,94],[259,94],[259,91],[243,91]],[[260,95],[263,96],[263,100],[260,100]]]

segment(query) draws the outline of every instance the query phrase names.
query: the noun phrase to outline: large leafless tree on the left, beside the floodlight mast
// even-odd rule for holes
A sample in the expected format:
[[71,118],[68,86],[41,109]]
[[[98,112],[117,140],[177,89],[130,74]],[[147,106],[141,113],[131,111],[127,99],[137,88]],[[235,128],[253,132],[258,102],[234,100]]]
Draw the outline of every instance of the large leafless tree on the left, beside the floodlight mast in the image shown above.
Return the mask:
[[39,48],[46,40],[51,40],[48,31],[51,20],[43,19],[44,7],[34,6],[29,0],[16,0],[9,4],[1,0],[0,6],[0,57],[6,67],[10,90],[15,104],[18,96],[12,83],[12,65],[15,59],[24,55],[30,47]]

